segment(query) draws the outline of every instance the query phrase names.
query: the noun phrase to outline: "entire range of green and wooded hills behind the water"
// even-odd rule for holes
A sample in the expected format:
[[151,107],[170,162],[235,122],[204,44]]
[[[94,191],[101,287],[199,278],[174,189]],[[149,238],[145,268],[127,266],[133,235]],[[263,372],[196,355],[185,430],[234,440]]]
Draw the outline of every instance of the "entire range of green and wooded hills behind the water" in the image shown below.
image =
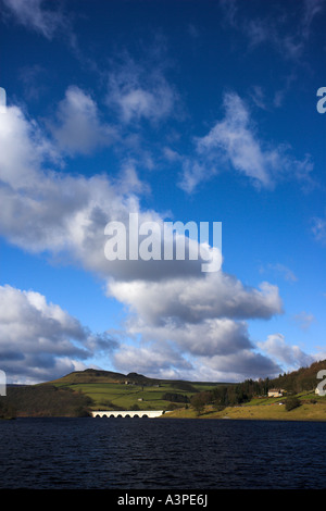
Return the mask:
[[[274,379],[230,384],[158,379],[137,373],[87,369],[38,385],[9,386],[8,396],[0,397],[0,419],[85,416],[99,409],[170,410],[174,412],[165,416],[183,417],[288,419],[289,415],[283,416],[283,410],[287,400],[296,398],[292,417],[326,420],[326,397],[315,394],[321,370],[326,370],[326,360]],[[271,388],[285,390],[286,397],[269,398]],[[271,407],[280,402],[284,408]]]

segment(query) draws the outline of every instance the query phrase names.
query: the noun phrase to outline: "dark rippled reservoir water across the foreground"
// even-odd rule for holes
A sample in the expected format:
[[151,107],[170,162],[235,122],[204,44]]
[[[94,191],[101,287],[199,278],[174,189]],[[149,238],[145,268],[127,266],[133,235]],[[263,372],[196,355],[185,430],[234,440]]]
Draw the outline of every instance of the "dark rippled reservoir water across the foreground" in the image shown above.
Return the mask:
[[0,439],[0,488],[326,488],[326,423],[17,419]]

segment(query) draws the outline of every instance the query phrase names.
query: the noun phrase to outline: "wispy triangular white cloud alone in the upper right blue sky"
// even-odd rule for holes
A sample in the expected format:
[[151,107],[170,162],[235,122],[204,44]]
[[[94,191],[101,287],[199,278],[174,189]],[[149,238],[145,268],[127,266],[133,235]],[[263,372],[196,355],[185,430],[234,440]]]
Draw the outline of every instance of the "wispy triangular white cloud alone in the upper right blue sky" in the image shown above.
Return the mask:
[[196,155],[186,161],[180,187],[188,192],[202,178],[230,169],[248,177],[254,186],[273,189],[280,179],[294,176],[312,185],[310,155],[297,160],[285,145],[272,146],[260,139],[250,110],[236,94],[224,96],[225,116],[203,137],[196,139]]

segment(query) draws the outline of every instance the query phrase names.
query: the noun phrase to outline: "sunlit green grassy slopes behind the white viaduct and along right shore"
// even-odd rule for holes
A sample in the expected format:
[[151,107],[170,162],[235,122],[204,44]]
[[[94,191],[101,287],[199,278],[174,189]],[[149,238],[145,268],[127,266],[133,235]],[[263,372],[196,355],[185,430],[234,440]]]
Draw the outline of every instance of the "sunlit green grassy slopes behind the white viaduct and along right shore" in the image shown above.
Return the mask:
[[[131,381],[131,385],[126,385]],[[71,373],[55,382],[49,382],[57,387],[80,390],[92,399],[92,410],[110,410],[114,408],[130,410],[176,410],[165,417],[197,417],[196,411],[185,407],[180,402],[171,403],[163,399],[165,392],[179,394],[189,399],[197,391],[209,390],[216,387],[216,383],[172,382],[147,378],[146,376],[131,374],[122,375],[109,372],[96,372],[87,370]],[[223,384],[225,385],[225,384]],[[201,419],[260,419],[260,420],[315,420],[326,421],[326,396],[318,397],[313,391],[298,395],[302,404],[291,411],[287,411],[280,398],[252,399],[249,403],[227,407],[216,411],[206,406]],[[313,402],[315,401],[315,402]]]

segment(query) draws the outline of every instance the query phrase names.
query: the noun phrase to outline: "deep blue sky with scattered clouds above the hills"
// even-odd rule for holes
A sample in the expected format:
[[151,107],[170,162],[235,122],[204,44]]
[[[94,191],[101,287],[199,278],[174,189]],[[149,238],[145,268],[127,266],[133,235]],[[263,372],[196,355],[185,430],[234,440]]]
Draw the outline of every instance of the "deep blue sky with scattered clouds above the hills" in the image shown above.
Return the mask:
[[[8,381],[236,382],[325,359],[326,1],[0,5]],[[111,263],[104,227],[131,212],[222,222],[221,270]]]

